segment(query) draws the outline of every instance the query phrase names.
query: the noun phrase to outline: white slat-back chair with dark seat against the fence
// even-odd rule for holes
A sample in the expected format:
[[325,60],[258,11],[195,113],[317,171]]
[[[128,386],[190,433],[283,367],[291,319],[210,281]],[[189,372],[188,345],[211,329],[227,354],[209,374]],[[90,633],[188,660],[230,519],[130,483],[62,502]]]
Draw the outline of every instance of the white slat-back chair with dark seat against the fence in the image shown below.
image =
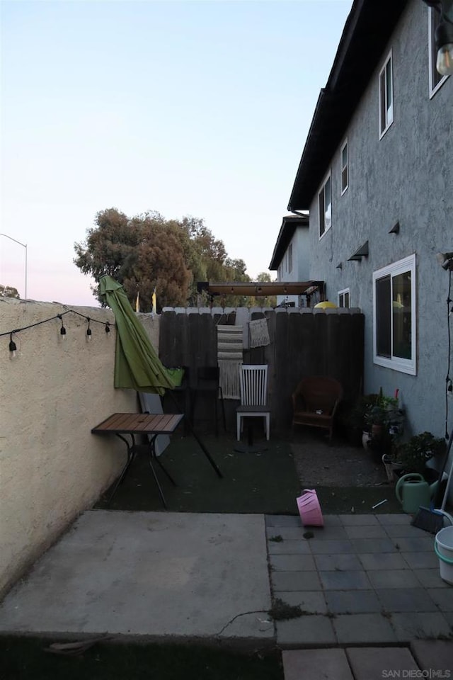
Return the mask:
[[236,425],[238,441],[241,439],[243,418],[256,417],[265,419],[265,435],[269,439],[270,407],[266,405],[268,398],[268,366],[241,365],[240,389],[241,406],[236,408]]

